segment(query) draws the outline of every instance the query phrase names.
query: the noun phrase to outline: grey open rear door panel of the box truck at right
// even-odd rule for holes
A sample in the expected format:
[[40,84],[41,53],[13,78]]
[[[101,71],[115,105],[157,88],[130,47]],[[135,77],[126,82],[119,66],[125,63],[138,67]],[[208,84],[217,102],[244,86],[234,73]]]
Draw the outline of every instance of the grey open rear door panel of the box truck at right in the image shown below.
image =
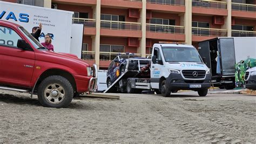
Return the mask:
[[220,50],[220,61],[221,61],[223,76],[234,75],[235,73],[234,39],[220,38],[219,50]]

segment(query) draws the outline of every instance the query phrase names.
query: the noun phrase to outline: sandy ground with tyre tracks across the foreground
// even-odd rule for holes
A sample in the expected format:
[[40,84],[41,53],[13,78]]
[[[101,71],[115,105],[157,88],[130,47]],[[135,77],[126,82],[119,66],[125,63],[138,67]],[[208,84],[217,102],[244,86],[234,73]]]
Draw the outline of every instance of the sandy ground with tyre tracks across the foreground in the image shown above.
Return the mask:
[[117,95],[79,97],[57,109],[42,107],[36,95],[0,90],[0,143],[256,143],[256,96]]

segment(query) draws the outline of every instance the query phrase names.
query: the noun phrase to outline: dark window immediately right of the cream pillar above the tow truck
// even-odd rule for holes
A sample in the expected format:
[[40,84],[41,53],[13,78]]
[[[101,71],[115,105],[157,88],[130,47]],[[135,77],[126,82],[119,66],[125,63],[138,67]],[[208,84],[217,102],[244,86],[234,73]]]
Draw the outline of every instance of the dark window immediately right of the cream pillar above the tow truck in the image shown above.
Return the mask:
[[200,29],[200,28],[210,28],[210,24],[207,22],[192,22],[192,35],[203,35],[209,36],[209,30]]

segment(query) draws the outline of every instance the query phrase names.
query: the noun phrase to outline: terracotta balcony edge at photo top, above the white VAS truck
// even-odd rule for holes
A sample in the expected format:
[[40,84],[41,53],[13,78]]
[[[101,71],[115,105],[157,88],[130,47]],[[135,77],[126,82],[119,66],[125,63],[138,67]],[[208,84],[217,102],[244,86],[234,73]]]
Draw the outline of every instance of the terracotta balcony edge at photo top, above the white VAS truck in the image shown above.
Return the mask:
[[52,0],[52,3],[61,3],[61,4],[72,4],[72,5],[96,5],[97,0]]

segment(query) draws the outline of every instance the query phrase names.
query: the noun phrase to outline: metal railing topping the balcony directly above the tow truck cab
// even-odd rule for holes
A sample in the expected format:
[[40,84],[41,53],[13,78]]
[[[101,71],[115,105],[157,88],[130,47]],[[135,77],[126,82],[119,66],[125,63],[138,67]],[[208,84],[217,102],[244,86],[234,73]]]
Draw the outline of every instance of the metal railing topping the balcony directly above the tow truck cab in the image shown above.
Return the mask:
[[146,24],[146,31],[162,33],[181,33],[184,34],[184,26],[163,25],[163,24]]

